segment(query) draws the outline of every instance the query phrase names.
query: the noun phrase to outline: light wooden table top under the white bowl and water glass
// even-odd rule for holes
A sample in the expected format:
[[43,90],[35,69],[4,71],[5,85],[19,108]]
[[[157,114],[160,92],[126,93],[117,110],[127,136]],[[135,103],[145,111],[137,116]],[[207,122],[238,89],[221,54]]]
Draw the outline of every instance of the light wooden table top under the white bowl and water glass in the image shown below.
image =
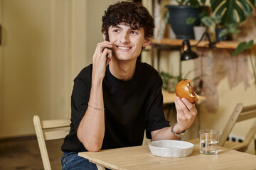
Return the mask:
[[169,169],[256,169],[256,156],[232,149],[219,147],[218,154],[199,153],[198,140],[191,140],[195,147],[192,154],[185,158],[164,158],[151,154],[148,145],[106,149],[100,152],[80,152],[80,157],[97,164],[98,169],[122,170],[169,170]]

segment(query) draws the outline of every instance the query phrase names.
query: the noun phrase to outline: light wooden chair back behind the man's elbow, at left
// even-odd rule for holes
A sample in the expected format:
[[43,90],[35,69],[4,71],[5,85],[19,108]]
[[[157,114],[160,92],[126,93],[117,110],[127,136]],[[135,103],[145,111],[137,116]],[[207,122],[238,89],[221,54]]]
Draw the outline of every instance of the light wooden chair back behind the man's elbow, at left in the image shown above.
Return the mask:
[[43,160],[45,170],[50,170],[50,160],[46,148],[46,140],[63,139],[70,130],[70,119],[40,120],[38,115],[34,115],[33,123],[36,130],[36,137]]

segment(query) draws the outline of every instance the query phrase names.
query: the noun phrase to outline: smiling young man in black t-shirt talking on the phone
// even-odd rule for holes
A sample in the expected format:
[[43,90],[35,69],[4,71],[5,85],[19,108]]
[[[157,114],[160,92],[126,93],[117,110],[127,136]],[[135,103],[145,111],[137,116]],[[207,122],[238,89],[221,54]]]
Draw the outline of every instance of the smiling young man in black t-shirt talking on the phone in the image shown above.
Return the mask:
[[105,41],[74,80],[63,169],[96,169],[78,152],[142,145],[144,130],[152,140],[176,140],[192,125],[195,106],[176,98],[177,124],[171,130],[163,113],[161,77],[137,60],[153,30],[154,19],[142,4],[119,2],[105,12]]

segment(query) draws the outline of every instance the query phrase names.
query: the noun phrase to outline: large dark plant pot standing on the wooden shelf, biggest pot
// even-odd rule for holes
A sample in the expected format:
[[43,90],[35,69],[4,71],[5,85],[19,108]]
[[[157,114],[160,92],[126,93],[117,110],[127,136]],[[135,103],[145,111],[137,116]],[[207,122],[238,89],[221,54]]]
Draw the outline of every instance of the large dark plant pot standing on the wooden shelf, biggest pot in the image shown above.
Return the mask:
[[[174,30],[177,39],[194,39],[193,26],[199,26],[202,8],[193,8],[191,6],[165,6],[169,9],[169,23]],[[187,25],[186,19],[188,17],[196,18],[193,25]]]

